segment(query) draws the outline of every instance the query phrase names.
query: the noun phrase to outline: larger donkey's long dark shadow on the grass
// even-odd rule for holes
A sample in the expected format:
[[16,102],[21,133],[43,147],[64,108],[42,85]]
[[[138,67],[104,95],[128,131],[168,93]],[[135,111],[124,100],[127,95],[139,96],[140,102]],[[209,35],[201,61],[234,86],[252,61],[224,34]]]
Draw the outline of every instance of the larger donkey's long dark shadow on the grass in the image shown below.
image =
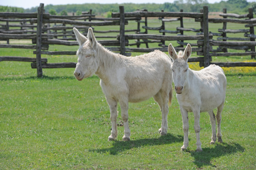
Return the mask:
[[139,140],[130,140],[130,141],[113,141],[113,146],[111,148],[105,149],[92,149],[90,152],[97,153],[107,153],[111,155],[117,155],[125,150],[130,150],[132,148],[139,148],[145,145],[165,145],[169,143],[179,143],[183,142],[183,136],[178,135],[174,136],[167,133],[167,135],[160,136],[159,138],[149,138],[149,139],[139,139]]

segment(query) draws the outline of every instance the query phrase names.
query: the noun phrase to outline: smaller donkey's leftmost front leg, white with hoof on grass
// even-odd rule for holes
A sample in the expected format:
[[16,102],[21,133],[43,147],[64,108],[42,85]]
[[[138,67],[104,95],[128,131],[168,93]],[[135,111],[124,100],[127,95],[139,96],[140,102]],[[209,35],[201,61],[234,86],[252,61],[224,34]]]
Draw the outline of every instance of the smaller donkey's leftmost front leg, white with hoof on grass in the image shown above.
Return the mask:
[[182,114],[182,122],[183,122],[183,133],[184,133],[184,141],[181,150],[186,150],[188,147],[188,130],[189,130],[189,123],[188,123],[188,114],[187,110],[183,107],[180,107],[180,112]]

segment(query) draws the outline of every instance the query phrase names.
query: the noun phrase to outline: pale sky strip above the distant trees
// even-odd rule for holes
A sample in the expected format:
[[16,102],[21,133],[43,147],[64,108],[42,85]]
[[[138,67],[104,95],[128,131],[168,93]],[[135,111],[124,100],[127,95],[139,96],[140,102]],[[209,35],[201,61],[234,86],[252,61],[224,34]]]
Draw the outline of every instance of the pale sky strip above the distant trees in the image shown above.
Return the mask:
[[[208,0],[209,3],[220,2],[221,0]],[[224,0],[226,1],[226,0]],[[256,0],[247,0],[247,2],[255,2]],[[66,4],[84,4],[84,3],[164,3],[174,2],[174,0],[0,0],[0,5],[11,7],[31,8],[39,6],[40,3],[46,5],[66,5]]]

